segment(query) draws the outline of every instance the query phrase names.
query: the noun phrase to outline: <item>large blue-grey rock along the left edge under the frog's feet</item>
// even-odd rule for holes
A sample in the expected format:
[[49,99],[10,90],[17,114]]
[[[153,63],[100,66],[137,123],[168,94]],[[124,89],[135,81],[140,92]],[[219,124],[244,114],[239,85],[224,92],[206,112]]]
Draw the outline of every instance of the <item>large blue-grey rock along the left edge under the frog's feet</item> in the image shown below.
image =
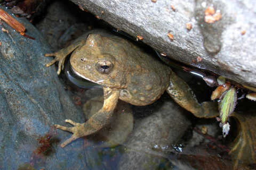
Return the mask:
[[[41,146],[37,139],[43,137],[53,124],[66,125],[63,122],[66,118],[84,122],[81,109],[74,105],[63,89],[55,67],[44,66],[52,60],[44,57],[45,53],[52,52],[50,45],[29,21],[17,20],[26,27],[26,34],[36,40],[22,37],[5,23],[0,26],[9,30],[9,33],[0,35],[1,169],[29,166],[30,155]],[[57,132],[58,135],[50,140],[52,146],[37,160],[35,168],[103,168],[91,167],[96,165],[98,155],[93,148],[81,149],[83,139],[61,149],[60,143],[71,134]]]

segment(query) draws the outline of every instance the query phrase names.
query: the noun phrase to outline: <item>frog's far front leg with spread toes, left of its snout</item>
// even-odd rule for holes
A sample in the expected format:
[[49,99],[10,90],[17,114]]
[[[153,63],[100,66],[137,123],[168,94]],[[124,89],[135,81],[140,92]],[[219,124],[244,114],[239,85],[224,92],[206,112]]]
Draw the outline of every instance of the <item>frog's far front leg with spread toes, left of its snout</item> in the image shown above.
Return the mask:
[[45,64],[45,66],[49,67],[53,63],[59,61],[58,72],[57,72],[57,74],[59,75],[60,71],[64,69],[64,63],[65,63],[65,59],[66,59],[67,55],[70,54],[71,52],[73,52],[78,46],[83,45],[84,43],[85,43],[85,40],[77,41],[76,43],[73,43],[73,44],[69,45],[68,47],[59,50],[59,52],[57,52],[57,53],[45,54],[44,55],[45,57],[55,56],[55,58],[51,62]]

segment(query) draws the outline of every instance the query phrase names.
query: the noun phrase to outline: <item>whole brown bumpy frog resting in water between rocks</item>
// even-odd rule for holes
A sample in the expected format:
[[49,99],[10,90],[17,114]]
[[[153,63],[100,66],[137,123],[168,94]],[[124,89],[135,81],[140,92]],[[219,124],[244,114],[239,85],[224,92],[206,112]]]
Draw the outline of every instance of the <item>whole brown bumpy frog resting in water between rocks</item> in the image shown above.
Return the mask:
[[73,133],[61,143],[62,148],[99,131],[113,114],[118,100],[146,106],[167,91],[174,101],[197,117],[219,115],[217,104],[212,101],[199,104],[188,84],[154,54],[126,38],[98,32],[86,33],[59,52],[45,54],[46,57],[55,56],[45,66],[58,61],[57,73],[60,74],[67,55],[71,53],[70,64],[74,73],[103,88],[103,106],[89,120],[85,123],[65,120],[73,127],[56,125],[57,129]]

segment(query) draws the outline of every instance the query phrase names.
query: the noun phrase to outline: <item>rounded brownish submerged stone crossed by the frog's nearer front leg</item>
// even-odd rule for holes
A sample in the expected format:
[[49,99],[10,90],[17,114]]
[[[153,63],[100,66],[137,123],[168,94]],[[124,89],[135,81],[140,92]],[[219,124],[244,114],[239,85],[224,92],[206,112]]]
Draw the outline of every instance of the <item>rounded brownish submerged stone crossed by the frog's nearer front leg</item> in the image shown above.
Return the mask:
[[[103,95],[88,100],[83,106],[83,112],[86,118],[91,118],[103,107]],[[97,142],[97,147],[110,148],[121,145],[129,137],[133,129],[133,114],[129,104],[118,100],[113,115],[108,119],[105,125],[89,138]],[[99,142],[100,141],[100,142]]]

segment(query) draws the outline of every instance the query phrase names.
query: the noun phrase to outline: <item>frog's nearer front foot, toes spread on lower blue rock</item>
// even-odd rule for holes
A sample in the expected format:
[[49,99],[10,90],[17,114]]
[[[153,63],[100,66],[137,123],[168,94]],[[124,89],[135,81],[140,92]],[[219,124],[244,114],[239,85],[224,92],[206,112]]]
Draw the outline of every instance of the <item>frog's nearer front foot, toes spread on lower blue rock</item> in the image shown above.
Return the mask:
[[71,120],[65,120],[65,122],[70,123],[71,125],[73,125],[74,127],[66,127],[66,126],[61,126],[61,125],[56,125],[56,128],[61,129],[63,131],[68,131],[71,133],[74,133],[68,140],[66,140],[65,142],[61,143],[61,148],[65,147],[66,145],[68,145],[68,143],[76,140],[77,138],[81,138],[84,136],[84,123],[76,123],[73,122]]

